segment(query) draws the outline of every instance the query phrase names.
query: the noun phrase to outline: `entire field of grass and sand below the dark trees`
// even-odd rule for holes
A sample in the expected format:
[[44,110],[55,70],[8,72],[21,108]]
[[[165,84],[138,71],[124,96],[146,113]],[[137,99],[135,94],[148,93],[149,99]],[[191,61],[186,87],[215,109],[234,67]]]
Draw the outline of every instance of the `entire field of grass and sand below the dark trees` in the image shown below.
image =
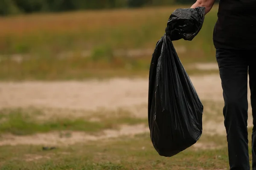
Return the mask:
[[194,40],[173,42],[204,105],[202,137],[172,158],[150,140],[151,55],[186,7],[1,17],[0,170],[227,170],[218,6]]

